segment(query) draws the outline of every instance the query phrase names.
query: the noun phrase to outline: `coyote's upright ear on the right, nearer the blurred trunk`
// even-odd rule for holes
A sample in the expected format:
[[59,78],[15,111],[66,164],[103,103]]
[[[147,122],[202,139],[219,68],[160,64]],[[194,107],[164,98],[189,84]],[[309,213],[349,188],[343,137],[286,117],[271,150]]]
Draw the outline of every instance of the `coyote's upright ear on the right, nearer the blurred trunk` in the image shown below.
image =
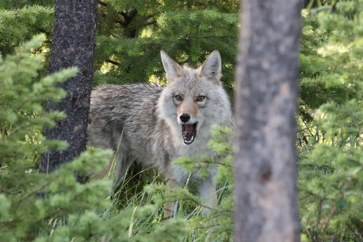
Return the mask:
[[219,84],[222,75],[222,61],[218,50],[213,51],[205,60],[200,69],[200,76]]

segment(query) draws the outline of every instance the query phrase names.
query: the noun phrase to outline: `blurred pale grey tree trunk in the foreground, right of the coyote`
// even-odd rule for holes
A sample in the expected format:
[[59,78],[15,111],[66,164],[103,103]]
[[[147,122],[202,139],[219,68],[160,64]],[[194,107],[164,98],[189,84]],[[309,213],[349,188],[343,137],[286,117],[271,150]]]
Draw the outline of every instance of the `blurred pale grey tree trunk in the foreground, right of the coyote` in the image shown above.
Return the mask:
[[234,241],[299,241],[295,147],[299,0],[242,0]]

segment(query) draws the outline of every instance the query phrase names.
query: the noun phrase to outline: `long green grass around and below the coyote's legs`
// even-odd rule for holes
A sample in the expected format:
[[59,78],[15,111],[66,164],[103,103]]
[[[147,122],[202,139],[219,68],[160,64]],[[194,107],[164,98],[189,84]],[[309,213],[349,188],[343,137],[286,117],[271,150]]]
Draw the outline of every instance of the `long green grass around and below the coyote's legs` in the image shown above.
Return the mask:
[[[89,147],[88,149],[89,151],[93,151],[92,147]],[[117,157],[114,156],[112,160],[113,164],[105,179],[115,179],[114,167],[116,160]],[[145,186],[150,188],[153,185],[158,188],[161,187],[159,194],[157,194],[159,196],[156,196],[156,198],[153,194],[146,191],[148,189],[145,189]],[[129,236],[151,233],[155,229],[155,226],[160,226],[168,221],[168,219],[163,218],[163,206],[160,204],[160,201],[158,201],[158,198],[164,196],[164,185],[164,179],[159,172],[152,168],[144,168],[140,164],[134,163],[128,170],[125,179],[119,184],[118,189],[109,197],[105,198],[110,199],[112,203],[111,206],[106,209],[104,213],[99,214],[99,216],[101,216],[103,220],[110,220],[112,217],[119,216],[122,210],[133,210],[147,204],[156,205],[155,211],[150,214],[150,216],[141,219],[134,219],[131,217],[128,228]],[[182,194],[179,194],[177,191],[173,193],[175,196],[179,197],[179,200],[177,201],[178,208],[172,218],[186,220],[190,232],[185,235],[183,241],[232,241],[231,221],[228,221],[232,212],[231,209],[221,208],[221,204],[226,201],[228,204],[228,200],[231,197],[230,188],[231,185],[228,185],[227,182],[221,182],[219,184],[217,190],[219,206],[215,213],[211,213],[211,215],[207,217],[201,216],[202,206],[197,199],[192,197],[197,196],[197,184],[185,184],[184,188],[182,188],[184,190]],[[189,192],[190,194],[188,194]],[[221,226],[221,223],[225,224]],[[99,241],[107,241],[103,239],[105,238],[99,238]]]

